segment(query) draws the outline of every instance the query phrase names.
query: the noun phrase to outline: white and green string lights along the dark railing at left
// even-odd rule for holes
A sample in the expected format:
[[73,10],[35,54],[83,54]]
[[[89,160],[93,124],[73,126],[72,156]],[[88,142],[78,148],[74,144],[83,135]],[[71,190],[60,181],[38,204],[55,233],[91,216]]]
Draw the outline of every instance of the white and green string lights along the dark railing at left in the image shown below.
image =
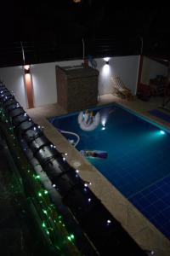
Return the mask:
[[[2,92],[1,92],[2,95]],[[6,96],[6,99],[8,97]],[[20,104],[17,103],[16,107],[20,107]],[[6,114],[4,114],[1,111],[2,115],[4,118],[6,116]],[[22,113],[21,113],[22,114]],[[23,114],[25,117],[27,116],[27,113]],[[31,118],[28,119],[29,121],[31,121]],[[10,131],[10,133],[14,134],[14,130],[13,130],[13,125],[11,123],[12,119],[6,119],[3,120],[3,122],[8,123],[8,129]],[[32,121],[33,122],[33,121]],[[10,126],[11,125],[11,126]],[[17,127],[17,125],[16,125]],[[36,131],[38,129],[41,128],[40,125],[38,126],[34,126],[33,130]],[[42,126],[42,129],[44,127]],[[7,130],[8,130],[7,129]],[[32,129],[32,126],[31,126]],[[8,131],[8,133],[9,133]],[[16,139],[14,137],[14,139]],[[11,138],[12,140],[12,138]],[[25,140],[26,141],[26,140]],[[20,154],[17,155],[17,147],[20,148],[20,144],[18,144],[17,140],[15,141],[16,143],[13,143],[14,145],[14,152],[16,152],[16,157],[19,161],[19,163],[23,163],[22,157],[20,157]],[[24,142],[23,139],[20,140],[20,142]],[[52,148],[56,148],[54,145],[52,145]],[[27,147],[24,148],[23,150],[26,151],[26,149],[28,149]],[[67,155],[67,153],[65,153],[65,156]],[[63,157],[63,160],[65,161],[65,157]],[[39,164],[38,164],[39,165]],[[52,244],[54,245],[54,243],[56,242],[55,237],[59,236],[61,237],[61,239],[63,239],[63,241],[65,241],[65,238],[67,238],[68,241],[71,241],[71,243],[69,242],[68,244],[64,243],[63,246],[60,248],[59,250],[62,249],[62,254],[64,255],[65,252],[68,252],[68,249],[71,248],[71,246],[73,246],[73,250],[74,252],[77,252],[77,247],[74,246],[74,244],[72,244],[72,241],[75,239],[75,236],[73,234],[68,235],[67,230],[65,229],[65,224],[62,221],[62,217],[58,215],[56,208],[54,206],[54,204],[51,204],[50,198],[48,196],[48,190],[44,189],[42,183],[41,183],[41,177],[40,175],[37,174],[37,172],[35,172],[35,170],[30,167],[30,166],[26,166],[26,168],[21,167],[22,171],[24,172],[24,174],[26,175],[26,179],[28,179],[29,183],[31,184],[31,196],[34,198],[34,203],[36,205],[36,208],[39,209],[39,207],[41,207],[41,218],[42,218],[42,228],[44,229],[44,232],[47,233],[47,235],[49,236],[50,241],[52,241]],[[76,173],[78,173],[79,171],[76,170]],[[77,175],[78,177],[78,175]],[[54,188],[56,187],[56,184],[52,185]],[[88,187],[88,183],[84,184],[86,189],[86,186]],[[37,195],[35,197],[35,195]],[[91,201],[91,198],[88,198],[88,201]],[[38,210],[37,210],[38,211]],[[45,214],[45,216],[43,216],[42,212]],[[38,212],[40,213],[40,212]],[[57,219],[58,221],[55,221],[55,219]],[[57,236],[56,236],[57,234]],[[68,247],[67,247],[68,246]],[[64,253],[63,253],[64,252]],[[78,255],[78,253],[76,253]]]

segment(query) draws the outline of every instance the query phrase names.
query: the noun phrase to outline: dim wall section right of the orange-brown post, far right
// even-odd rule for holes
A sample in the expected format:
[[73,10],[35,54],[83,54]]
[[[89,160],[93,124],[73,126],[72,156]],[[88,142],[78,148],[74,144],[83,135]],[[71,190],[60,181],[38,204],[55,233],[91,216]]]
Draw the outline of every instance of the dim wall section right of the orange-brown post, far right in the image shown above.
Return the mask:
[[150,79],[155,79],[156,75],[167,76],[167,67],[144,56],[140,83],[149,84]]

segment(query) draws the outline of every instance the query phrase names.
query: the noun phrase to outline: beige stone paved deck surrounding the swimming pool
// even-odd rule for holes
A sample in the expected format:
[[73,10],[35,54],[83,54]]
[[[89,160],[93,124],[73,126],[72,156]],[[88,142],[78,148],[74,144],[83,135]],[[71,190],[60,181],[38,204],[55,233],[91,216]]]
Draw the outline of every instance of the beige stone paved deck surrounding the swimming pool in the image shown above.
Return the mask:
[[[170,124],[166,121],[161,121],[161,119],[147,113],[147,111],[158,107],[155,102],[142,102],[139,99],[127,102],[111,94],[100,96],[99,105],[111,102],[117,102],[170,129]],[[154,250],[154,255],[156,256],[169,256],[170,241],[48,122],[49,117],[65,114],[66,111],[59,107],[57,103],[27,109],[26,111],[37,124],[44,126],[45,135],[54,143],[56,148],[60,152],[68,154],[66,160],[69,164],[80,171],[79,173],[83,180],[92,183],[90,189],[139,246],[145,250]]]

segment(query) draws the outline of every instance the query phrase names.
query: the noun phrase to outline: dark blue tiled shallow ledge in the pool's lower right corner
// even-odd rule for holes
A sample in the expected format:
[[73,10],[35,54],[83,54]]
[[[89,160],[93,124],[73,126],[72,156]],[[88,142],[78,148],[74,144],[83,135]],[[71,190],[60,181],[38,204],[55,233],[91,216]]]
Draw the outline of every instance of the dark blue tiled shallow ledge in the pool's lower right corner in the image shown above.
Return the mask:
[[128,200],[170,239],[170,175]]

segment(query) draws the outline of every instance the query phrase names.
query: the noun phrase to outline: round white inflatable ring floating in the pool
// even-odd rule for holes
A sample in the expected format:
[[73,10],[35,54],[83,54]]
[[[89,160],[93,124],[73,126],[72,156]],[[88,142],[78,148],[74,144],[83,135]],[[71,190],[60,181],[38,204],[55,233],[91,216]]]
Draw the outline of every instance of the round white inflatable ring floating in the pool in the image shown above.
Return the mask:
[[78,124],[84,131],[93,131],[100,122],[99,112],[94,115],[93,111],[88,111],[88,109],[83,113],[82,111],[78,115]]

